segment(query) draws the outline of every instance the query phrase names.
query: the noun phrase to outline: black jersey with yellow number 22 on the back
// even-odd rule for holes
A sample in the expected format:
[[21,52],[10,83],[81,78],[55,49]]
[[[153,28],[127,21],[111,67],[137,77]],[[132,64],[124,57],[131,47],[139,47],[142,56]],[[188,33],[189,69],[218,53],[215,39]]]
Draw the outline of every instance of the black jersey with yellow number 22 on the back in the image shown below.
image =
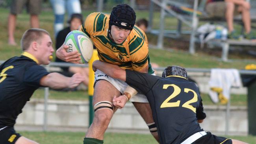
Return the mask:
[[206,118],[195,83],[180,76],[161,78],[126,70],[126,83],[147,96],[161,144],[180,144],[202,131]]

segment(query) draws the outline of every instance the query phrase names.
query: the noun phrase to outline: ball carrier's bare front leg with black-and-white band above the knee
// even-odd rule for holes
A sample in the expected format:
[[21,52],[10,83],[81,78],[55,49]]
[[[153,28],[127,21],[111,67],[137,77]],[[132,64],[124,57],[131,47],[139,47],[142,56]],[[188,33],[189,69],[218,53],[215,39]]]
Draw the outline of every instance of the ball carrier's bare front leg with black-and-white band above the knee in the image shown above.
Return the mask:
[[[99,80],[96,82],[93,94],[95,113],[93,123],[86,133],[86,138],[103,140],[104,133],[108,128],[108,124],[113,116],[113,109],[111,109],[111,105],[115,95],[120,96],[121,93],[111,83],[106,80]],[[109,103],[111,103],[111,105]],[[87,140],[89,140],[86,138],[84,139],[84,144],[87,143]]]

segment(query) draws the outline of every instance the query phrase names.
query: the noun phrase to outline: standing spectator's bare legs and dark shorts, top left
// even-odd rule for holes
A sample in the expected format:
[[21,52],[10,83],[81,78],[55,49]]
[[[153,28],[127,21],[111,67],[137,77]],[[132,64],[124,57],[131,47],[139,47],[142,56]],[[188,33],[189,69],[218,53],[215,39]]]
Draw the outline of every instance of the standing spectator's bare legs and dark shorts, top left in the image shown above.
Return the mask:
[[17,14],[22,12],[23,6],[26,5],[27,12],[30,13],[30,27],[39,28],[38,15],[41,12],[42,0],[12,0],[11,11],[8,18],[8,44],[17,45],[14,38]]

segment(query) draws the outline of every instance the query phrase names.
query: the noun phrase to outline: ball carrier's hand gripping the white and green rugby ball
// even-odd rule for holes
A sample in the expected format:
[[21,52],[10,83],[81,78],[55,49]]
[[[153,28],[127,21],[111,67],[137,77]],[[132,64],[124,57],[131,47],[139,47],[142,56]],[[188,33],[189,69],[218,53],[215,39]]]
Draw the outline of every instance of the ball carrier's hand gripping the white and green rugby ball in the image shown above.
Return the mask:
[[74,52],[67,52],[66,50],[69,48],[69,46],[63,44],[58,50],[56,51],[56,56],[63,60],[70,63],[79,63],[78,61],[80,58],[80,53],[78,51]]

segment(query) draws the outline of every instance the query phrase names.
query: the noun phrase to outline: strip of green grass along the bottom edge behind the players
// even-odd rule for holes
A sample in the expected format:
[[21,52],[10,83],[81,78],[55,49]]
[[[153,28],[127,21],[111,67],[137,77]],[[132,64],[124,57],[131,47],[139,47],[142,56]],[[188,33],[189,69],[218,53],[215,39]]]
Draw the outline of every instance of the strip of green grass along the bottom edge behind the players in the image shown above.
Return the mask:
[[[80,132],[19,132],[22,136],[30,138],[41,144],[82,144],[85,133]],[[256,144],[255,136],[224,136]],[[157,144],[151,135],[106,133],[104,144]]]

